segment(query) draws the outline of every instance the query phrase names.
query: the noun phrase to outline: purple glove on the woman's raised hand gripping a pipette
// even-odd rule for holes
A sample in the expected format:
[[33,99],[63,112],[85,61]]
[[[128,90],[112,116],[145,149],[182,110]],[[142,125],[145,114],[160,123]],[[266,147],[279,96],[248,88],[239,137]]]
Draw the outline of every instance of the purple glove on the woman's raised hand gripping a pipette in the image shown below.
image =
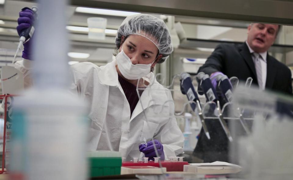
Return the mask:
[[[21,31],[29,28],[34,23],[34,12],[31,9],[24,9],[19,12],[19,18],[17,19],[18,26],[16,27],[18,35]],[[31,60],[31,39],[24,43],[24,50],[22,51],[22,57]]]

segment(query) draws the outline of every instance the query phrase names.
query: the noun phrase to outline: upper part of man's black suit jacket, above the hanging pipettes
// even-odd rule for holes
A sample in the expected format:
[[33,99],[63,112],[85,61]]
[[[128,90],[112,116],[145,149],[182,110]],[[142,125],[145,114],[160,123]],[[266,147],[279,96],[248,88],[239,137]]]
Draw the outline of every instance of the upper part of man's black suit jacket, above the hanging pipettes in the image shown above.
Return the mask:
[[[291,71],[283,63],[267,54],[266,90],[292,94]],[[222,72],[229,78],[236,76],[246,81],[248,77],[258,86],[255,65],[248,46],[243,44],[220,44],[198,72],[211,75],[213,72]]]

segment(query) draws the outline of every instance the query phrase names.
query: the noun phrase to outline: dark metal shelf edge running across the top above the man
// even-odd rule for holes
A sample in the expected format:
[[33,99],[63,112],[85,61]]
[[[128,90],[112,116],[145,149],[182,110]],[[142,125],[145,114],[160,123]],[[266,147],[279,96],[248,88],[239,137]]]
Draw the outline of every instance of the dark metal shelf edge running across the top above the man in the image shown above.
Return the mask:
[[71,5],[293,25],[293,2],[273,0],[72,0]]

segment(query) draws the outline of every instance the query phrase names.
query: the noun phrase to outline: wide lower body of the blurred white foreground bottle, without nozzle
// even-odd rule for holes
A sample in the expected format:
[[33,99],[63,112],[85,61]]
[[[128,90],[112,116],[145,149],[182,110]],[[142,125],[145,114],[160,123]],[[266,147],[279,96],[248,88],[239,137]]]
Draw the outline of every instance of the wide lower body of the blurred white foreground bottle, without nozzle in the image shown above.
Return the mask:
[[87,176],[85,108],[67,90],[32,89],[17,97],[11,174],[29,180]]

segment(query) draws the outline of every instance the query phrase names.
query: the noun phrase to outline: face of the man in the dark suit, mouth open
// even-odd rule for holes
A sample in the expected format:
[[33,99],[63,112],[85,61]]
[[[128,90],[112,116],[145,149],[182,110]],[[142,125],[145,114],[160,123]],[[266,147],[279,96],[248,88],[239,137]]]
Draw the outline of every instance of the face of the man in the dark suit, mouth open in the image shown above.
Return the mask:
[[278,31],[274,24],[250,24],[248,26],[247,42],[257,53],[265,52],[273,45]]

